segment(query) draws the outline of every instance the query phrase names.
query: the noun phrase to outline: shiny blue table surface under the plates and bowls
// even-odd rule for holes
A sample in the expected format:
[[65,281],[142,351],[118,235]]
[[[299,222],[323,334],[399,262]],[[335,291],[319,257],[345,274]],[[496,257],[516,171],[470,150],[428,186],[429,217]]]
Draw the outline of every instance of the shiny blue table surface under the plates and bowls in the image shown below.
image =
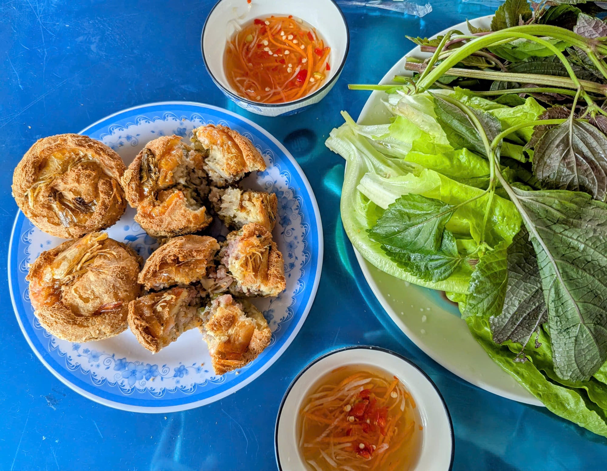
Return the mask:
[[[243,0],[244,1],[244,0]],[[257,380],[222,401],[172,414],[129,413],[65,387],[25,342],[2,269],[0,291],[0,470],[273,470],[274,421],[293,377],[320,354],[345,345],[393,349],[426,371],[455,428],[454,470],[591,470],[607,467],[607,441],[544,408],[480,390],[433,362],[392,323],[362,276],[339,216],[344,161],[324,145],[358,116],[367,92],[412,43],[492,10],[432,0],[422,19],[345,11],[350,55],[318,105],[285,118],[249,114],[211,82],[200,55],[210,1],[5,0],[0,4],[0,265],[16,214],[13,167],[36,139],[85,126],[129,106],[190,100],[222,106],[270,131],[304,169],[322,215],[325,257],[304,327]]]

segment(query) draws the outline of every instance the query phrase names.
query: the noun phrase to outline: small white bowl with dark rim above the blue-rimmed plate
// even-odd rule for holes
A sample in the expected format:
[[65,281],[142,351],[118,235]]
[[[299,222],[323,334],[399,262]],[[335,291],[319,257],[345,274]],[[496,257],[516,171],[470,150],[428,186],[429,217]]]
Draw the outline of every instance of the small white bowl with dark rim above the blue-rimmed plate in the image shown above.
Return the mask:
[[[232,36],[236,24],[245,24],[254,18],[271,15],[293,15],[316,28],[331,47],[328,58],[331,70],[325,83],[313,94],[287,103],[259,103],[240,97],[228,83],[223,69],[226,41]],[[350,33],[344,14],[333,0],[219,0],[206,18],[202,30],[202,58],[206,70],[223,94],[240,107],[264,116],[285,116],[303,111],[327,95],[344,68],[350,46]]]

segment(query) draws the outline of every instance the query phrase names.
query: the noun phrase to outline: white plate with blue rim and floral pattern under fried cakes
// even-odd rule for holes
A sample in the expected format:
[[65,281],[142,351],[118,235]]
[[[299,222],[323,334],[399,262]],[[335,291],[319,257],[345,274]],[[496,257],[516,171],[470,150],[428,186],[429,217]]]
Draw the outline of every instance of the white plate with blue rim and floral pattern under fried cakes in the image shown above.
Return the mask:
[[[276,298],[254,300],[263,312],[272,338],[270,345],[238,371],[215,376],[206,343],[198,329],[185,332],[157,354],[139,345],[131,331],[97,342],[72,343],[49,334],[39,324],[25,281],[28,264],[63,239],[32,225],[19,211],[8,249],[8,284],[13,308],[36,356],[61,382],[93,401],[128,411],[166,413],[217,401],[244,387],[287,349],[299,332],[316,295],[322,267],[322,225],[314,193],[291,154],[267,131],[237,114],[215,106],[166,101],[136,106],[112,114],[80,134],[100,140],[129,165],[143,146],[159,136],[178,134],[187,139],[192,129],[221,124],[248,137],[268,168],[247,177],[243,185],[276,193],[278,216],[274,241],[285,259],[287,289]],[[126,213],[107,232],[133,247],[143,258],[157,247]]]

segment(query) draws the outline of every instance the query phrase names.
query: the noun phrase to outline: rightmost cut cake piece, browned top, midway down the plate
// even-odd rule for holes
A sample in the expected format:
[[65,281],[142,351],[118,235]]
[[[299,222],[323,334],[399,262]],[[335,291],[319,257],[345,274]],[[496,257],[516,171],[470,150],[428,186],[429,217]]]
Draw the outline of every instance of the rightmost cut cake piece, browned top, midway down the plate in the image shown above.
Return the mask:
[[248,296],[277,296],[285,290],[282,253],[263,225],[245,224],[228,234],[220,255],[237,280],[237,288]]

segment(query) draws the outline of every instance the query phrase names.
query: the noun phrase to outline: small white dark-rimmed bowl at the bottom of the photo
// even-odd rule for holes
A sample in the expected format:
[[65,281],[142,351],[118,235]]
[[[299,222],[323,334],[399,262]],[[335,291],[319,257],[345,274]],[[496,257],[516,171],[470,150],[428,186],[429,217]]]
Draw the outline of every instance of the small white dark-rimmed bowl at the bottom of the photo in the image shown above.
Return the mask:
[[455,451],[453,425],[443,396],[432,380],[395,352],[374,346],[351,346],[314,360],[297,375],[285,393],[278,410],[274,438],[280,471],[308,471],[297,445],[297,414],[310,387],[324,374],[344,365],[382,368],[397,376],[415,399],[424,428],[418,462],[409,471],[451,469]]

